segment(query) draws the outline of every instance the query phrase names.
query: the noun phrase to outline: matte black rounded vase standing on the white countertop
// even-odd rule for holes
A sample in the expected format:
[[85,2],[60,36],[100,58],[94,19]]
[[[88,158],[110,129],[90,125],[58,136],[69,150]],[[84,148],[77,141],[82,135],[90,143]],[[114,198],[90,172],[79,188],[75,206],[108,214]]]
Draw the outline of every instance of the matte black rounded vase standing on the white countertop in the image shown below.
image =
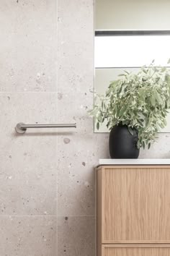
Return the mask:
[[130,134],[126,125],[119,124],[109,133],[109,154],[111,158],[138,158],[138,132]]

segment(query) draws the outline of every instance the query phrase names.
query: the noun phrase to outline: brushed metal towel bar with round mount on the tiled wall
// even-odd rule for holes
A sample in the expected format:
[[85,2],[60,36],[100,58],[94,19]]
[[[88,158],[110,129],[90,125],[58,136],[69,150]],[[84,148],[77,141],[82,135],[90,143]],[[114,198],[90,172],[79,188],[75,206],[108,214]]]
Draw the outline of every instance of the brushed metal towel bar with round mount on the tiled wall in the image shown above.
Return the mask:
[[76,124],[24,124],[19,123],[15,127],[17,133],[24,133],[27,131],[27,128],[76,128]]

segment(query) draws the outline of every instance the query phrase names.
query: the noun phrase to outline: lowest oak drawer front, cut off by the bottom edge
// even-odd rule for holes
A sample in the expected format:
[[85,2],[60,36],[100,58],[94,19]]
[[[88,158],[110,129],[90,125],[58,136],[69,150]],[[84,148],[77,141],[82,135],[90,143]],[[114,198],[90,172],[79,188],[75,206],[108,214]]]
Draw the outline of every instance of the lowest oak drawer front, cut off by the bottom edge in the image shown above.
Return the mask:
[[170,247],[102,247],[102,256],[169,256]]

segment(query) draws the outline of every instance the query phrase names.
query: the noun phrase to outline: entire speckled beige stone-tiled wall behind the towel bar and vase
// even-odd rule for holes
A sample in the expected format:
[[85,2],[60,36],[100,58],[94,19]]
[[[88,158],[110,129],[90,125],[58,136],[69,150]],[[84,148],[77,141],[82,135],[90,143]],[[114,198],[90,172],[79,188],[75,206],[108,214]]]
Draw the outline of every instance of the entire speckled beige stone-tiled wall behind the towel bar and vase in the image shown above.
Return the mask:
[[[94,166],[109,158],[109,135],[86,114],[94,0],[3,0],[0,10],[0,255],[94,256]],[[16,135],[19,121],[77,129]],[[140,157],[169,158],[169,142],[160,135]]]

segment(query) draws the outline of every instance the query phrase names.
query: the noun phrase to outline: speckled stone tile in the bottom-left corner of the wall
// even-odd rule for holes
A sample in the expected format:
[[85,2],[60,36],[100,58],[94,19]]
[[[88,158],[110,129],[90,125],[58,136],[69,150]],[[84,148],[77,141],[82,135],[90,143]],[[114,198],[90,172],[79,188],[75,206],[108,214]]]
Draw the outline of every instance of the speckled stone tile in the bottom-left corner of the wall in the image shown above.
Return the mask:
[[55,217],[0,217],[3,256],[57,256]]

